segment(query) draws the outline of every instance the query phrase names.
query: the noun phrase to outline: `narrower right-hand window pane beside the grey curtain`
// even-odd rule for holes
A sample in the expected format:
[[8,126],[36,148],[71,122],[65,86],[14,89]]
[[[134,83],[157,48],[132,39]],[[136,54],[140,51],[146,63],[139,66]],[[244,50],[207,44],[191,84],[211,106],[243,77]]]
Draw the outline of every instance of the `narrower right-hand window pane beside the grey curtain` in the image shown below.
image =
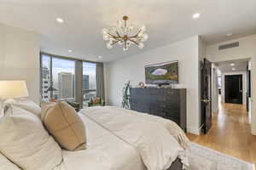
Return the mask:
[[83,105],[87,105],[92,97],[96,97],[96,64],[83,62],[82,79]]

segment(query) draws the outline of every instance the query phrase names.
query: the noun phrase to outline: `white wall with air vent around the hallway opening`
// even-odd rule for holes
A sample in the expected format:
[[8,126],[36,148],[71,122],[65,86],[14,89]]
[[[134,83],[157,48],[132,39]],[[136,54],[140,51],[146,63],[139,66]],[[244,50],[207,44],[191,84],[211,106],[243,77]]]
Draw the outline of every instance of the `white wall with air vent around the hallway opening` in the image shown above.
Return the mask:
[[[240,42],[237,48],[218,50],[218,46],[230,42]],[[221,42],[207,47],[207,57],[212,62],[228,61],[234,59],[251,59],[252,61],[252,133],[256,135],[256,35],[241,37],[228,42]]]

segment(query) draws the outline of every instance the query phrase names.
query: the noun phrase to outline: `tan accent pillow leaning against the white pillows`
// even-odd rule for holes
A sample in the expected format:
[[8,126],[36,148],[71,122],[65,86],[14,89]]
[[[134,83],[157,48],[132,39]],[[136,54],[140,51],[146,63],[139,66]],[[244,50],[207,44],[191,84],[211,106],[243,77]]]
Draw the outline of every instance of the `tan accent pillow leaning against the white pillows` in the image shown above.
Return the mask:
[[85,150],[86,133],[83,121],[71,105],[57,102],[42,109],[42,121],[49,133],[66,150]]

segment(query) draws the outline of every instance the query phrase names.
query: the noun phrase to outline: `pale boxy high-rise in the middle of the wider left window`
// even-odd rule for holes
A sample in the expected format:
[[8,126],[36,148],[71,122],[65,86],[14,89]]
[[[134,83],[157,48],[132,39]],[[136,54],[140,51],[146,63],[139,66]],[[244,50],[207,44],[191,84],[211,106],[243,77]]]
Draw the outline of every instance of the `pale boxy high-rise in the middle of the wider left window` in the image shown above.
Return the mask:
[[73,78],[73,74],[70,72],[58,74],[59,99],[73,99]]

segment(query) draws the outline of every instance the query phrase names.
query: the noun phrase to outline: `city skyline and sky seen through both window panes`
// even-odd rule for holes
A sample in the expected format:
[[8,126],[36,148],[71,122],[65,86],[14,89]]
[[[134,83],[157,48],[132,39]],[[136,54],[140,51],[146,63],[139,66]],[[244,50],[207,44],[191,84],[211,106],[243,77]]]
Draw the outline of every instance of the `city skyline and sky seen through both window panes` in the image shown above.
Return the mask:
[[[42,99],[75,100],[75,61],[42,54]],[[83,62],[82,77],[83,106],[96,96],[96,64]]]

